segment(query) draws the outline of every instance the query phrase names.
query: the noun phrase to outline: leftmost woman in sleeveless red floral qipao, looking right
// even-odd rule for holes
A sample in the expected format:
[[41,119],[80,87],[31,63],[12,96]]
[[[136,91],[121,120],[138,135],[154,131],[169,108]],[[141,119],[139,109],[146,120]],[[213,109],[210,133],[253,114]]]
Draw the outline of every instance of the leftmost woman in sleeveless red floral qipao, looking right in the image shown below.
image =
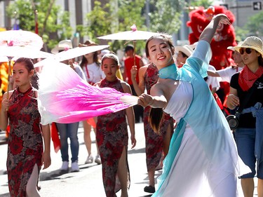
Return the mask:
[[2,101],[0,128],[6,130],[8,121],[11,128],[6,162],[11,197],[40,196],[37,183],[41,165],[45,169],[51,163],[50,128],[40,124],[37,90],[31,83],[33,75],[32,60],[16,60],[13,79],[18,87],[5,93]]

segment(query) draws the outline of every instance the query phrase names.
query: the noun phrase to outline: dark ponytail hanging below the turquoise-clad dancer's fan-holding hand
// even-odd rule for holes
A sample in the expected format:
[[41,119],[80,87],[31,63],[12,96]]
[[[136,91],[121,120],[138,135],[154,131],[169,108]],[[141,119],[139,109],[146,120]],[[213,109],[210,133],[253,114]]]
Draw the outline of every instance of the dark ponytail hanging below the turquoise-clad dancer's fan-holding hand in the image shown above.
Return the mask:
[[149,113],[149,124],[154,130],[154,133],[161,135],[160,124],[163,119],[163,109],[162,108],[151,108]]

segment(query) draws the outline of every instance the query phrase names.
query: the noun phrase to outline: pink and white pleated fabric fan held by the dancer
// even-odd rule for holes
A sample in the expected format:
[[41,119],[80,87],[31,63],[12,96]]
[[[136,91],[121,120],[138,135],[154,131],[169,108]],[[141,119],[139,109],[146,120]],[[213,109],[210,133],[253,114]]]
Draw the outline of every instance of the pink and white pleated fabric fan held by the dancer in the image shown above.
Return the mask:
[[[49,62],[50,63],[50,62]],[[137,97],[113,88],[90,86],[66,64],[45,65],[39,76],[41,123],[73,123],[120,111],[137,104]]]

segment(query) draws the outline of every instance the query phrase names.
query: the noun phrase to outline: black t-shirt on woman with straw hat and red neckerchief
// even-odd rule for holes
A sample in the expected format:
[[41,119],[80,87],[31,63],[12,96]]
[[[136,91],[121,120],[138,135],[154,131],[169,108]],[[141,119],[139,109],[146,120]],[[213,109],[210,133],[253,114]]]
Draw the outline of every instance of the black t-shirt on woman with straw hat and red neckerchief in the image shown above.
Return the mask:
[[[230,86],[238,91],[239,102],[242,104],[244,102],[245,97],[248,95],[248,91],[243,91],[241,86],[238,84],[238,76],[239,73],[234,74],[231,77]],[[261,102],[263,104],[263,75],[257,79],[259,81],[258,86],[253,90],[252,95],[250,95],[250,99],[245,104],[243,109],[248,107],[253,107],[257,102]],[[252,113],[241,114],[239,118],[238,128],[255,128],[256,127],[256,118],[252,116]]]

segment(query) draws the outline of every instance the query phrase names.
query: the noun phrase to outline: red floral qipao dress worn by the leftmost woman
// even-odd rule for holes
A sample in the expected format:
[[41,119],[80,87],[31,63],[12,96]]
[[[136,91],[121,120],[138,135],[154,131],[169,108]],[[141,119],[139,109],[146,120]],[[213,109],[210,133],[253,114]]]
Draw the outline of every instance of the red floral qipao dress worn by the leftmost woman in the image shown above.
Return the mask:
[[36,90],[13,91],[8,108],[10,134],[8,138],[7,174],[11,196],[26,196],[26,186],[34,165],[41,169],[43,141]]

